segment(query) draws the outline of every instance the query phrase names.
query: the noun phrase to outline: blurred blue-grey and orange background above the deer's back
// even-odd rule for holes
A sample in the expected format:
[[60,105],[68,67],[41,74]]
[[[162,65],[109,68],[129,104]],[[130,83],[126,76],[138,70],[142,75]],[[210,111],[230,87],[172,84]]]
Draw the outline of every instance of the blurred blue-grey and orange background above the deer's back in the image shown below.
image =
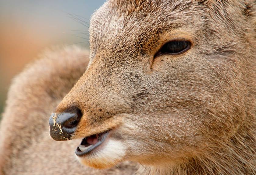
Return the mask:
[[0,0],[0,114],[12,77],[45,48],[89,46],[88,26],[105,0]]

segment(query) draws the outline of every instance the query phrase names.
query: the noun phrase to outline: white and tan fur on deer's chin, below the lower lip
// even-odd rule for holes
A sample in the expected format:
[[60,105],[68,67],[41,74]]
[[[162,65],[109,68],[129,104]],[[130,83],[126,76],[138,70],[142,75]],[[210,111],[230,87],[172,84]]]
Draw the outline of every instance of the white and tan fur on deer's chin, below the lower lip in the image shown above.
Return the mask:
[[104,169],[115,166],[123,160],[126,154],[126,146],[117,140],[109,139],[104,146],[94,150],[88,156],[76,156],[77,160],[85,165],[97,169]]

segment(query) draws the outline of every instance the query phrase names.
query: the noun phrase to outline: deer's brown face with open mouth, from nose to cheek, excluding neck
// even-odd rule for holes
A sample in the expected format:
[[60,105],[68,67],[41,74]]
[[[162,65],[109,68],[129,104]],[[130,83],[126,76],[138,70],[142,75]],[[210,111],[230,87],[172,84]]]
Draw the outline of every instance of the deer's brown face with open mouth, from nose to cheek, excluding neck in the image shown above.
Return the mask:
[[95,168],[175,164],[228,139],[245,116],[242,13],[235,1],[106,2],[51,136],[82,139],[77,158]]

